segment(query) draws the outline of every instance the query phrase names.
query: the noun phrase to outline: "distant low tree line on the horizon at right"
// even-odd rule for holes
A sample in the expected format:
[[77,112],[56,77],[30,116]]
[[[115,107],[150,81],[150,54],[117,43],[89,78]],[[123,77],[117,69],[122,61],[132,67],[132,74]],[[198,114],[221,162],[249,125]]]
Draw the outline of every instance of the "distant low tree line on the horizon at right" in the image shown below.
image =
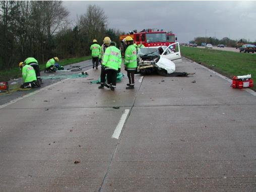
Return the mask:
[[217,39],[214,37],[196,37],[194,38],[194,40],[189,41],[189,43],[197,43],[198,45],[201,45],[202,43],[210,43],[212,45],[218,45],[218,44],[223,44],[223,45],[227,45],[228,47],[236,47],[236,43],[240,40],[242,40],[243,43],[246,44],[256,44],[256,41],[251,42],[249,40],[246,39],[239,39],[239,40],[233,40],[233,39],[229,39],[228,37],[224,37],[222,39]]

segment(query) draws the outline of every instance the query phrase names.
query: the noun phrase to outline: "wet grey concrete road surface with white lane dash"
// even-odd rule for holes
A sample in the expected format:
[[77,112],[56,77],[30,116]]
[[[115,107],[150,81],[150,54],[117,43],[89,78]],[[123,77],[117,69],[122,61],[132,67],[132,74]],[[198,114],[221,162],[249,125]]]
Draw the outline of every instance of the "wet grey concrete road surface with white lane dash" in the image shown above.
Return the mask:
[[89,70],[1,105],[0,191],[255,191],[255,93],[176,71],[196,74],[113,92]]

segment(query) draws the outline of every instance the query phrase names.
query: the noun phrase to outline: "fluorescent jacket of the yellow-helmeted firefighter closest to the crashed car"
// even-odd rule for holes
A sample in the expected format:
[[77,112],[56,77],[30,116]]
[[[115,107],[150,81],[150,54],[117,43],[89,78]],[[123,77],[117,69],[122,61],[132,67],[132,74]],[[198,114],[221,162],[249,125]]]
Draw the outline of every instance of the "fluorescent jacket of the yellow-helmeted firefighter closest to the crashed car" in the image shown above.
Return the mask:
[[124,65],[126,68],[137,68],[137,51],[133,45],[129,45],[125,50]]

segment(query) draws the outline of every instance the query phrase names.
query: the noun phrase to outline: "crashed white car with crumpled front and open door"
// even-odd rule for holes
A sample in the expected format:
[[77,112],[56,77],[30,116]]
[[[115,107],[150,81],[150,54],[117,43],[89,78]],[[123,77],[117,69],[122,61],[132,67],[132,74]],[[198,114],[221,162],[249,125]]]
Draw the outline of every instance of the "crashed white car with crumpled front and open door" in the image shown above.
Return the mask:
[[166,46],[143,47],[138,50],[138,73],[168,76],[175,72],[175,61],[181,60],[179,43]]

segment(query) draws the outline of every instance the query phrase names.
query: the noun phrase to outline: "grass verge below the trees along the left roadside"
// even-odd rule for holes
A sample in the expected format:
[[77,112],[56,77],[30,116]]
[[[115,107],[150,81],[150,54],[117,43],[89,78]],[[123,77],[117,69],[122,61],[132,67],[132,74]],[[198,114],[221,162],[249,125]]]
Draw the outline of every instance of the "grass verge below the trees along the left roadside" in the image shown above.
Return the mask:
[[[78,57],[78,58],[62,59],[62,60],[59,60],[59,65],[67,66],[67,65],[71,65],[73,63],[81,62],[84,60],[89,60],[91,58],[92,58],[91,56],[83,56],[83,57]],[[40,64],[39,67],[40,67],[40,71],[43,71],[45,69],[45,64]],[[22,77],[22,72],[18,67],[18,63],[17,63],[17,68],[0,72],[0,81],[9,81],[11,79],[17,79],[20,77]]]

